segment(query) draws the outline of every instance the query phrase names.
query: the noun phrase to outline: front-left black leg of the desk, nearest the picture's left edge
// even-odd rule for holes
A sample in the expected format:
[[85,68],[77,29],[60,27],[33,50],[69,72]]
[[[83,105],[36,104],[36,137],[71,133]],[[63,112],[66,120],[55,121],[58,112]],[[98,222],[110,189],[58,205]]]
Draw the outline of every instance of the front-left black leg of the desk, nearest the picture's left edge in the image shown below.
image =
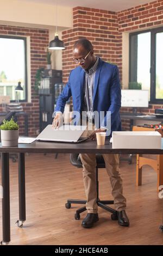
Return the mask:
[[9,180],[9,153],[2,153],[2,244],[10,242],[10,180]]

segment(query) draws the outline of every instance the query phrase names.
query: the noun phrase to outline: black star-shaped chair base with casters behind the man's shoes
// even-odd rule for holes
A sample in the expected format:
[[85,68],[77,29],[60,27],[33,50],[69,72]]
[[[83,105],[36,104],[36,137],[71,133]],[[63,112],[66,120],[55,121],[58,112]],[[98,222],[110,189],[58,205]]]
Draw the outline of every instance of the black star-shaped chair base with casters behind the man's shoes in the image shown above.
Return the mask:
[[[71,204],[86,204],[86,200],[76,200],[76,199],[68,199],[67,203],[65,204],[66,209],[71,208]],[[106,211],[111,212],[111,220],[117,221],[118,216],[117,216],[117,211],[112,209],[111,207],[108,206],[108,204],[114,204],[114,200],[99,200],[97,199],[97,205],[101,208],[103,208]],[[76,211],[76,214],[74,215],[74,218],[76,220],[80,220],[80,214],[82,212],[86,211],[86,207],[79,208]]]

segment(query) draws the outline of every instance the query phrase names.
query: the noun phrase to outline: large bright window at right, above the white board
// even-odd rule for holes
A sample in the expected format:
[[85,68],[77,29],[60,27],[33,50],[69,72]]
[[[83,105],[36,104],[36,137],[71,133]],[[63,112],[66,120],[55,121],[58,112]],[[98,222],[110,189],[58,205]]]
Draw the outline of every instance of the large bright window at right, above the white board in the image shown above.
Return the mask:
[[129,88],[149,90],[151,103],[163,103],[163,28],[131,33]]

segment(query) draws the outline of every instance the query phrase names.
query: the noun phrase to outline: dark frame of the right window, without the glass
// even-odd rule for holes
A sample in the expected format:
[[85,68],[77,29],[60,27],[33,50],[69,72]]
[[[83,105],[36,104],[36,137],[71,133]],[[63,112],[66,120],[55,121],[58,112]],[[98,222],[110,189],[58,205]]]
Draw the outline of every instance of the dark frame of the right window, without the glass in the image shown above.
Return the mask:
[[149,104],[163,104],[163,99],[156,99],[156,33],[163,32],[163,27],[157,27],[152,29],[146,29],[143,31],[137,31],[129,33],[129,82],[131,81],[131,36],[142,33],[151,32],[151,84],[150,84],[150,101]]

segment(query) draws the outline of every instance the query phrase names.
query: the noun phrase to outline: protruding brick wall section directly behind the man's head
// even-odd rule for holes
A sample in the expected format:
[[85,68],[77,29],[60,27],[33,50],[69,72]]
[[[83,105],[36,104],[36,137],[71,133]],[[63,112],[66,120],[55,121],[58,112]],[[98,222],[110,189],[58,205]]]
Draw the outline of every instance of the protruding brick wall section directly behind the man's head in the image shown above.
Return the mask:
[[83,37],[92,42],[95,55],[119,66],[121,76],[121,36],[118,32],[118,20],[115,12],[85,7],[73,8],[73,28],[62,32],[62,40],[66,46],[66,50],[62,52],[64,82],[67,81],[70,70],[76,66],[72,62],[74,42]]

